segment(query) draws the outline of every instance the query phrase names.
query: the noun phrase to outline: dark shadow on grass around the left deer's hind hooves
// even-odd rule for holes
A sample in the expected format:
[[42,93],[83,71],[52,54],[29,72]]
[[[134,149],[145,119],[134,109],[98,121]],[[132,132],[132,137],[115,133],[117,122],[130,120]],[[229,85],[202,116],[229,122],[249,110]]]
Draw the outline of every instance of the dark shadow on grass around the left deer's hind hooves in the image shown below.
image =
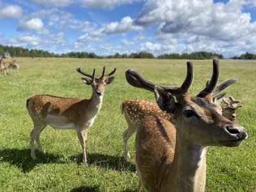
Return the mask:
[[17,168],[20,168],[24,173],[33,170],[36,164],[65,163],[60,161],[61,156],[55,156],[47,152],[42,154],[36,151],[36,157],[36,160],[31,159],[29,148],[6,148],[0,150],[0,161],[13,164],[17,166]]

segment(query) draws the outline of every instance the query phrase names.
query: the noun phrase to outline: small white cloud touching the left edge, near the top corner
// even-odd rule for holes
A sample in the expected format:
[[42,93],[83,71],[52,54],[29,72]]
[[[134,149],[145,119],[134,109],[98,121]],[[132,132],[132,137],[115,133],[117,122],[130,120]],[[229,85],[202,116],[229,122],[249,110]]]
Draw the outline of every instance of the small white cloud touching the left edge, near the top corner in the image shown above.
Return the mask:
[[17,5],[7,4],[3,6],[0,4],[0,19],[19,19],[22,16],[22,8]]

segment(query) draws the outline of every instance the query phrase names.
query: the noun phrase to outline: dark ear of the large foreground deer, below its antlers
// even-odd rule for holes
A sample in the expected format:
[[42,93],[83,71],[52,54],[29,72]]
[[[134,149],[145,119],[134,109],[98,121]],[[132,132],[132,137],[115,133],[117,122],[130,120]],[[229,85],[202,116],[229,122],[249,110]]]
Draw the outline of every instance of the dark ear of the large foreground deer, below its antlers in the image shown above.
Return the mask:
[[170,93],[164,92],[163,88],[159,86],[154,87],[154,93],[157,105],[160,109],[166,113],[175,113],[175,99]]

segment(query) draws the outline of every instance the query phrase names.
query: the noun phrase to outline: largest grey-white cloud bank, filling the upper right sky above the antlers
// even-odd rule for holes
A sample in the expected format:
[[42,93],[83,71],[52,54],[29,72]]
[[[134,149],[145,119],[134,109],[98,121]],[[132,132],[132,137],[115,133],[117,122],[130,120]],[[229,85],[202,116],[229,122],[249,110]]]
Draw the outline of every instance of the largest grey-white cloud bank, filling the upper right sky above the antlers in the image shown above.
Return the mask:
[[[250,13],[243,13],[245,1],[213,3],[211,0],[149,0],[136,19],[142,26],[162,23],[162,33],[188,33],[231,41],[256,31]],[[255,33],[255,32],[254,32]]]

